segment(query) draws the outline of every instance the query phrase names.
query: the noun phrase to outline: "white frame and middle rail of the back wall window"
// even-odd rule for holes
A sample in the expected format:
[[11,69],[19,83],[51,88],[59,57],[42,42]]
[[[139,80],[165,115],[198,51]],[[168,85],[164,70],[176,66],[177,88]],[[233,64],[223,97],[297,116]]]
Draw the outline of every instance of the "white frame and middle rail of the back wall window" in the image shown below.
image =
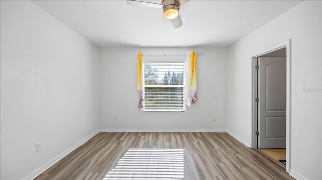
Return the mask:
[[[150,84],[145,84],[145,64],[183,64],[183,84],[182,85],[150,85]],[[146,87],[160,87],[160,88],[183,88],[183,108],[182,109],[146,109],[145,105],[143,104],[142,111],[143,112],[185,112],[186,111],[186,63],[184,62],[153,62],[153,63],[148,63],[148,62],[143,62],[142,63],[142,70],[143,70],[143,98],[145,98],[145,88]],[[145,101],[145,100],[144,100]],[[143,103],[144,103],[143,101]]]

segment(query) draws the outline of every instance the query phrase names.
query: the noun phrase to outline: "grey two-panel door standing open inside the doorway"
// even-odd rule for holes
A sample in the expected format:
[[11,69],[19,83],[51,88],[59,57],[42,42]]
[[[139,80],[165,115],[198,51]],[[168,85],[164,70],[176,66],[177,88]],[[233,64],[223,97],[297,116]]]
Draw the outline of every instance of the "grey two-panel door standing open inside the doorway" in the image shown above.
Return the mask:
[[286,57],[258,64],[258,148],[286,148]]

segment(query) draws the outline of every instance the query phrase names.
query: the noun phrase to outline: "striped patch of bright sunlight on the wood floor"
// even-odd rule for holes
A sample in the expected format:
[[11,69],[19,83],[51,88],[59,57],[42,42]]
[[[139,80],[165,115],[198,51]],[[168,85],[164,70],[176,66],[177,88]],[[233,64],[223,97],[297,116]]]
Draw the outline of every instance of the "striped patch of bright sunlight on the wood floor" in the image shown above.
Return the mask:
[[135,149],[126,151],[103,180],[183,179],[183,149]]

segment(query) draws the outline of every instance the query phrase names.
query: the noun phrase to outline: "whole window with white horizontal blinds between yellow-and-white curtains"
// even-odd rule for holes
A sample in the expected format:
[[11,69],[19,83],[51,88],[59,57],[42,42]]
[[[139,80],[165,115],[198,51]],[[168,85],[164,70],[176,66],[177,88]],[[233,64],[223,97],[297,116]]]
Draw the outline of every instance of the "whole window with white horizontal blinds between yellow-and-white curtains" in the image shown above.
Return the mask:
[[185,111],[185,63],[143,63],[143,111]]

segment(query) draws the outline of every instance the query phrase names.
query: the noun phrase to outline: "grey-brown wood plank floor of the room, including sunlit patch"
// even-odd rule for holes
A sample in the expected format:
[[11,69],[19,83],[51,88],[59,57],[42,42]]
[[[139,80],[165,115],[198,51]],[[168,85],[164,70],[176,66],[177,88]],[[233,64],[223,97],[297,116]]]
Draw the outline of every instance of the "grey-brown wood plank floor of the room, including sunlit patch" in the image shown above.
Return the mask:
[[99,133],[36,179],[293,178],[227,133]]

